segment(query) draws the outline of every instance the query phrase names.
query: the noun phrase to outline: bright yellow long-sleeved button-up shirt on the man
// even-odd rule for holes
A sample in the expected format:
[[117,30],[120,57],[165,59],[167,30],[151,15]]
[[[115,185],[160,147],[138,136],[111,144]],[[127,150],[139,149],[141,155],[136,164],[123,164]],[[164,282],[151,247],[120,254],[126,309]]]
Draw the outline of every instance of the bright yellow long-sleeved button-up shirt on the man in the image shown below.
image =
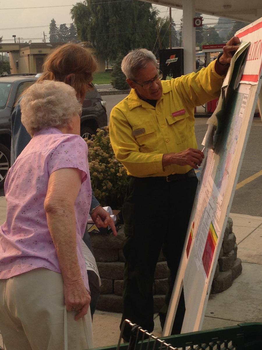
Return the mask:
[[134,89],[110,114],[110,140],[116,158],[128,175],[167,176],[187,173],[190,166],[162,168],[165,153],[197,148],[195,106],[217,98],[224,77],[214,70],[215,61],[197,73],[162,80],[163,93],[153,107]]

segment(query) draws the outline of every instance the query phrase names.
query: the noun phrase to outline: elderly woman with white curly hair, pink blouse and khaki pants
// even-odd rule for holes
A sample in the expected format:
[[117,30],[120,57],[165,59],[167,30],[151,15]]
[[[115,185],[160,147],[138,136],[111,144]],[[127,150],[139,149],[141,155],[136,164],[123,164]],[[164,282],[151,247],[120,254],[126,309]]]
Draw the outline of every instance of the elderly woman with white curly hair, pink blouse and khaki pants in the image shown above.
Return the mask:
[[22,123],[32,139],[5,182],[0,226],[0,331],[7,349],[93,347],[81,240],[92,190],[81,104],[65,83],[28,88]]

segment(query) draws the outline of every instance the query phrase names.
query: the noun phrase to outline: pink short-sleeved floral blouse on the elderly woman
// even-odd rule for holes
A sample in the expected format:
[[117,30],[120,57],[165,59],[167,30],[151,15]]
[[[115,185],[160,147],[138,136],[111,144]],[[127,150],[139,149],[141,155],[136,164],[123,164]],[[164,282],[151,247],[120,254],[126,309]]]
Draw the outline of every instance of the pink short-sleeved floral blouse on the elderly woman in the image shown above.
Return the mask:
[[10,168],[5,181],[7,219],[0,226],[0,279],[39,267],[61,272],[44,200],[52,172],[78,168],[82,170],[82,185],[75,201],[77,255],[89,290],[81,249],[92,195],[87,153],[86,142],[80,136],[48,128],[34,135]]

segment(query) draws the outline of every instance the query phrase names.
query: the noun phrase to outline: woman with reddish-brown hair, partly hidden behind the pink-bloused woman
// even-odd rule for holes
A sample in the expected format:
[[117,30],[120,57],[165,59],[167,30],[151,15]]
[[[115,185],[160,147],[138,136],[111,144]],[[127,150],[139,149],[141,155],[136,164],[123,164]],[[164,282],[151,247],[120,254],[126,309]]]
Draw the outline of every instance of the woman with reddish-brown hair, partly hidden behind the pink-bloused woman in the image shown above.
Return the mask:
[[[92,52],[82,46],[82,44],[67,43],[54,49],[45,60],[43,73],[37,80],[56,80],[71,85],[78,99],[83,102],[89,84],[93,79],[93,72],[96,70],[97,63]],[[21,123],[20,103],[17,103],[11,117],[12,124],[12,144],[11,144],[11,163],[14,163],[24,147],[31,140],[30,135]],[[117,235],[114,222],[92,195],[90,206],[90,215],[97,227],[111,226],[114,235]],[[89,233],[86,230],[83,237],[88,248],[92,251],[92,245]],[[98,276],[95,272],[88,270],[88,280],[91,295],[90,311],[93,316],[97,300],[100,294],[100,285]]]

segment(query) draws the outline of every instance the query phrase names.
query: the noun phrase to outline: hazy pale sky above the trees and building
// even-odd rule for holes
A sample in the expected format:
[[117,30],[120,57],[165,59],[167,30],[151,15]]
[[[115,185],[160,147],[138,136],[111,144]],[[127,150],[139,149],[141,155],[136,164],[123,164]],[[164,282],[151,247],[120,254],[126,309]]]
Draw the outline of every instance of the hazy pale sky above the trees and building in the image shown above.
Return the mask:
[[[101,2],[103,0],[97,0]],[[69,25],[72,23],[70,9],[80,1],[74,0],[0,0],[0,36],[3,36],[3,43],[13,42],[12,35],[16,35],[16,40],[41,42],[45,35],[49,37],[49,24],[52,18],[59,26],[61,23]],[[63,5],[63,6],[62,6]],[[65,6],[70,5],[70,6]],[[25,8],[39,6],[61,6],[46,8]],[[6,9],[8,8],[8,9]],[[12,9],[10,9],[12,8]],[[15,9],[18,8],[18,9]],[[169,15],[169,8],[166,6],[157,6],[160,15]],[[180,23],[182,10],[172,9],[172,18],[175,23]],[[216,17],[204,15],[205,24],[216,22]],[[23,28],[22,27],[37,27]],[[23,38],[23,39],[22,39]],[[46,39],[46,41],[49,41]]]

